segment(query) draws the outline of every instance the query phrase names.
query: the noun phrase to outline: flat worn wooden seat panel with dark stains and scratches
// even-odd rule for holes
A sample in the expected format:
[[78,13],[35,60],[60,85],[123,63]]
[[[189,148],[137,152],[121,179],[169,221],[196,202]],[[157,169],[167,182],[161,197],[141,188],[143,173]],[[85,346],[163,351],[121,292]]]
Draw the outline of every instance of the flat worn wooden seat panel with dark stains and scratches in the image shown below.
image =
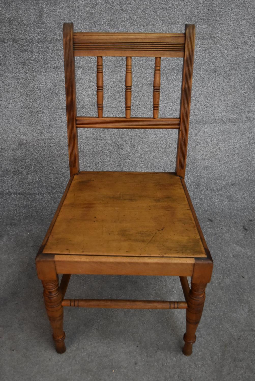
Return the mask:
[[74,176],[43,253],[206,257],[175,173]]

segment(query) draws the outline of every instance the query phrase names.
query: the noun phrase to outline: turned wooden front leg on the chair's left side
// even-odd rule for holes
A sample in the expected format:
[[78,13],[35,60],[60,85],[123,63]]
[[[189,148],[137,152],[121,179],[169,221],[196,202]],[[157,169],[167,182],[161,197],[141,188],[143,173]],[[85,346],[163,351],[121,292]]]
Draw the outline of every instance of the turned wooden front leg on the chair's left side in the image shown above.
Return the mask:
[[47,310],[48,318],[53,329],[53,339],[55,341],[56,351],[64,353],[65,346],[65,333],[63,331],[63,307],[62,293],[58,286],[58,280],[42,280],[43,284],[43,298]]

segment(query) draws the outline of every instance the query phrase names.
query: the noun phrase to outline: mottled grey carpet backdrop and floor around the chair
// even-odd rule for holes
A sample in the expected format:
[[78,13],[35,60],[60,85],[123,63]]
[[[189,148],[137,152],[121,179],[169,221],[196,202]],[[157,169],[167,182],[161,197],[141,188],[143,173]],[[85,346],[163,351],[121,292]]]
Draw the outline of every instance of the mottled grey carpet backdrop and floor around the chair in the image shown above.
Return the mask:
[[[252,380],[252,1],[1,2],[3,380]],[[69,178],[63,22],[76,31],[196,24],[186,183],[215,267],[189,358],[183,311],[65,310],[55,353],[34,258]],[[152,115],[153,59],[133,59],[132,115]],[[160,116],[178,116],[181,60],[162,59]],[[95,58],[77,59],[78,114],[96,115]],[[104,59],[104,115],[124,115],[123,58]],[[176,131],[80,130],[83,170],[172,171]],[[76,291],[77,289],[77,291]],[[178,279],[74,276],[70,297],[179,299]],[[252,360],[253,359],[253,360]]]

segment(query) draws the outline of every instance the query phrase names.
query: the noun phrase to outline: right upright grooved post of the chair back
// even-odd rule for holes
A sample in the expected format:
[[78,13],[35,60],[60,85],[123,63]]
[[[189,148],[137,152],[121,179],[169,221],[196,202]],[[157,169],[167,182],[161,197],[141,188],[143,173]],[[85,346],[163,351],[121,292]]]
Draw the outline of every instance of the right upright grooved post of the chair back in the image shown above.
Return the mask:
[[183,76],[181,84],[180,130],[176,155],[176,174],[184,178],[186,169],[189,113],[191,104],[191,87],[195,49],[195,26],[185,26],[185,51],[183,59]]

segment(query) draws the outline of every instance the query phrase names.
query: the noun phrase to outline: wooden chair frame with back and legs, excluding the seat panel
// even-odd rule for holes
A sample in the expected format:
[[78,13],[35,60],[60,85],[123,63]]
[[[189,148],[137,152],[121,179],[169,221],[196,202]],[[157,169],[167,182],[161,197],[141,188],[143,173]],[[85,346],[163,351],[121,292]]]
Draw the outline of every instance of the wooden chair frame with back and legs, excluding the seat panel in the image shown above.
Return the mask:
[[[196,213],[184,182],[188,145],[189,112],[191,102],[194,60],[195,26],[186,25],[184,34],[131,34],[131,33],[74,33],[73,24],[63,27],[64,69],[66,82],[67,137],[69,147],[70,180],[40,247],[37,274],[44,287],[44,299],[53,328],[56,351],[63,353],[63,306],[186,309],[186,333],[183,353],[192,353],[196,328],[205,300],[205,287],[210,282],[213,261],[202,234]],[[79,117],[76,111],[75,56],[97,57],[98,117]],[[103,56],[126,56],[125,118],[103,117]],[[131,118],[132,56],[155,57],[153,118]],[[183,58],[180,115],[176,118],[158,118],[160,96],[160,57]],[[79,171],[77,128],[159,128],[178,129],[176,176],[180,176],[189,207],[204,246],[206,258],[130,257],[60,255],[43,253],[51,229],[75,174]],[[58,283],[58,274],[63,274]],[[105,275],[168,275],[179,276],[185,301],[138,301],[107,299],[64,299],[71,274]],[[191,277],[191,288],[187,277]]]

